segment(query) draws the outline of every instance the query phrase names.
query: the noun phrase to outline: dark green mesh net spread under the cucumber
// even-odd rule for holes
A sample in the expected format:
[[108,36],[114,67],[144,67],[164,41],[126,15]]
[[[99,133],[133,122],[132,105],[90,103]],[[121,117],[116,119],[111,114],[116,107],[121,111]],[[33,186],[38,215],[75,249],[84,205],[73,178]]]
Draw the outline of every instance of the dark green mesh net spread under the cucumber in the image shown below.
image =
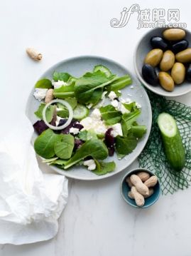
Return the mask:
[[[163,195],[188,188],[191,183],[191,108],[177,101],[170,101],[147,91],[153,111],[153,124],[148,143],[138,157],[140,167],[148,168],[158,176]],[[177,121],[182,142],[185,147],[186,163],[182,171],[170,168],[165,158],[160,130],[156,123],[158,115],[169,113]]]

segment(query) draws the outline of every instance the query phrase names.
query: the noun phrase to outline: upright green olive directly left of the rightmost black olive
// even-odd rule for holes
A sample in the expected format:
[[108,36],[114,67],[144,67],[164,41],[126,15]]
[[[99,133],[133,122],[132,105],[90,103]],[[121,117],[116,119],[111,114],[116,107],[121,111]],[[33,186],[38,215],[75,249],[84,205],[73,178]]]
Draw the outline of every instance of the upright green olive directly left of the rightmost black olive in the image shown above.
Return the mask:
[[171,76],[176,84],[180,84],[185,80],[185,66],[176,62],[172,68]]

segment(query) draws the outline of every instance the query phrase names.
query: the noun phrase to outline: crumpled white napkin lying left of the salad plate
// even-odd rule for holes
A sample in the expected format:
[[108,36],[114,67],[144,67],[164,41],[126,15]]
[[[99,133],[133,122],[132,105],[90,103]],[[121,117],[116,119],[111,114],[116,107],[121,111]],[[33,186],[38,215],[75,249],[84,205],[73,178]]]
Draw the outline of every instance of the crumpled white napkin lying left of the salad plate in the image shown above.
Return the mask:
[[9,127],[0,138],[0,243],[48,240],[67,203],[67,178],[40,171],[26,116]]

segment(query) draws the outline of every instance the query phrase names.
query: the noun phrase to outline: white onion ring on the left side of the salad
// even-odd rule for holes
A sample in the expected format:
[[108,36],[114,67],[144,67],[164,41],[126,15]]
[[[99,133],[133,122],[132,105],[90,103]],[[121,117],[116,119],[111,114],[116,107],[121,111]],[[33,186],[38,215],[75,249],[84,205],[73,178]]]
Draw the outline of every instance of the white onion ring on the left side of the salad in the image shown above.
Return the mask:
[[[48,123],[46,121],[46,118],[45,118],[45,112],[47,110],[47,108],[53,104],[53,103],[61,103],[62,105],[64,105],[65,107],[67,107],[68,109],[68,112],[69,112],[69,117],[67,119],[67,122],[64,123],[62,126],[52,126],[50,125],[50,123]],[[45,105],[45,107],[43,108],[43,121],[45,122],[45,124],[50,128],[50,129],[53,129],[53,130],[62,130],[63,128],[67,127],[70,125],[71,121],[72,121],[72,118],[73,118],[73,110],[72,110],[72,107],[70,106],[69,103],[67,103],[67,101],[63,101],[63,100],[59,100],[59,99],[56,99],[56,100],[53,100],[53,101],[50,101],[49,103],[47,103]]]

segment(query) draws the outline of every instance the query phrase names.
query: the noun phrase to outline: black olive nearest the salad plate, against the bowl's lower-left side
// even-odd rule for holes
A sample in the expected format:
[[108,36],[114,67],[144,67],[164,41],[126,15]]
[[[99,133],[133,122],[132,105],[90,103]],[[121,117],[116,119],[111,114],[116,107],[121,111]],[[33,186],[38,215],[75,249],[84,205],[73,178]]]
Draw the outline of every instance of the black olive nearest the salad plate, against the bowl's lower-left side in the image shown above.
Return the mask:
[[158,83],[158,76],[155,71],[155,68],[149,64],[144,64],[142,68],[142,75],[144,80],[147,83],[150,83],[152,86],[156,86]]

